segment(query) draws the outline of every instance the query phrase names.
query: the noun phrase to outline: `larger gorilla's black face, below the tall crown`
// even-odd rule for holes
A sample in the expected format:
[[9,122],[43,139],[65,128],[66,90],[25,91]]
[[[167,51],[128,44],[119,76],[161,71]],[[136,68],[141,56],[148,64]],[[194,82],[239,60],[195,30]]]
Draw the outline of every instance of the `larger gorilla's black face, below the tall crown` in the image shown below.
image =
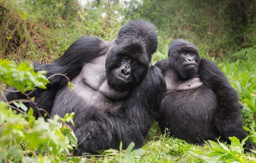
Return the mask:
[[141,82],[149,64],[150,59],[139,43],[115,45],[105,63],[108,84],[118,91],[129,90]]

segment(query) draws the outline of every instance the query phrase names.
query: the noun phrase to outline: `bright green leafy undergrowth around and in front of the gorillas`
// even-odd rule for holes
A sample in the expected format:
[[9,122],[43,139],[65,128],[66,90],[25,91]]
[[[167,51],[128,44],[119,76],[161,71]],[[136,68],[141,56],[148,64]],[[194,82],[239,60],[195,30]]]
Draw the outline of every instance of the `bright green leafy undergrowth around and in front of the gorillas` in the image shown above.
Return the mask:
[[[219,62],[219,67],[239,92],[244,105],[244,128],[248,132],[246,139],[256,144],[256,67],[253,64],[255,59],[250,55],[248,53],[246,60],[233,63]],[[13,61],[0,60],[0,80],[22,92],[30,91],[35,86],[45,88],[48,80],[44,73],[35,73],[32,64],[26,62],[17,66]],[[140,149],[133,149],[134,143],[131,143],[123,150],[120,144],[119,150],[101,150],[99,155],[77,157],[74,155],[77,140],[65,123],[73,123],[73,113],[65,118],[55,116],[47,121],[44,118],[35,120],[32,108],[27,108],[22,101],[13,103],[15,107],[5,99],[0,103],[0,162],[256,162],[255,150],[244,153],[242,146],[246,139],[239,142],[232,137],[230,145],[216,140],[198,146],[160,134],[157,123],[152,126],[146,144]],[[24,114],[16,114],[15,110]]]

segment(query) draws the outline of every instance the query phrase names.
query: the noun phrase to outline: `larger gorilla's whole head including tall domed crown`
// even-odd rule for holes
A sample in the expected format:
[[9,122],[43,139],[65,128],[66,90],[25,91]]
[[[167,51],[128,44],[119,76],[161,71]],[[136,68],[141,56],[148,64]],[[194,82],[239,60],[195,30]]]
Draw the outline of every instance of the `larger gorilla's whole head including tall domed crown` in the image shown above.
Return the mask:
[[157,34],[152,23],[133,20],[124,24],[106,58],[108,84],[119,91],[138,85],[156,49]]

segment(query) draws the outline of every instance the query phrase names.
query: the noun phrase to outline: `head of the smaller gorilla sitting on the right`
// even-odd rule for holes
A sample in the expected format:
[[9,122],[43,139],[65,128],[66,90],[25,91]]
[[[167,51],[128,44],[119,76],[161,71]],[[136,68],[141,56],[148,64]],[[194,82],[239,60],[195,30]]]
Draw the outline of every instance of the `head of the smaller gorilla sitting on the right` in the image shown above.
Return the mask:
[[197,47],[186,40],[177,39],[169,44],[168,60],[184,79],[193,78],[198,73],[200,56]]

